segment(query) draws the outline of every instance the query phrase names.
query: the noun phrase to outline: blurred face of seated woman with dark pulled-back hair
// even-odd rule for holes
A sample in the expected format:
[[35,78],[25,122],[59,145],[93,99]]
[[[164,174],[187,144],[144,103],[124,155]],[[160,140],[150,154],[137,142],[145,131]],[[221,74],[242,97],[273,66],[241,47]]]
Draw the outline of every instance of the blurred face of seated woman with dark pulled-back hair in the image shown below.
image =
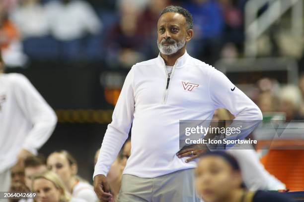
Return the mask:
[[52,153],[47,159],[47,168],[57,173],[66,185],[76,175],[76,165],[69,164],[68,159],[62,153]]

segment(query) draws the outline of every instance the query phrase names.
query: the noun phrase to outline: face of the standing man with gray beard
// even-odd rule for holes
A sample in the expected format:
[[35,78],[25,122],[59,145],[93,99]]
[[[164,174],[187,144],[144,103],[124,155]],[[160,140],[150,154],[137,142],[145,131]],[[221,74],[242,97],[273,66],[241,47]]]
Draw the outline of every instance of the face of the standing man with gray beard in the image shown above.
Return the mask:
[[193,31],[187,30],[186,19],[182,14],[167,12],[157,22],[157,46],[164,55],[181,50],[190,41]]

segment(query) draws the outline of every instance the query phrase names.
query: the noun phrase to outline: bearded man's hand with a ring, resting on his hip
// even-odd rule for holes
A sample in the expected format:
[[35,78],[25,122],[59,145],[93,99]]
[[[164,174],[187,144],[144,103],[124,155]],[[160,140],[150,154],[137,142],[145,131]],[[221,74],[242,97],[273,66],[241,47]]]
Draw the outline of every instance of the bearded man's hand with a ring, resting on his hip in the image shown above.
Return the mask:
[[182,148],[179,152],[176,153],[176,155],[179,158],[191,156],[185,160],[185,162],[188,163],[191,160],[200,157],[200,155],[205,152],[209,152],[209,149],[206,145],[196,144]]

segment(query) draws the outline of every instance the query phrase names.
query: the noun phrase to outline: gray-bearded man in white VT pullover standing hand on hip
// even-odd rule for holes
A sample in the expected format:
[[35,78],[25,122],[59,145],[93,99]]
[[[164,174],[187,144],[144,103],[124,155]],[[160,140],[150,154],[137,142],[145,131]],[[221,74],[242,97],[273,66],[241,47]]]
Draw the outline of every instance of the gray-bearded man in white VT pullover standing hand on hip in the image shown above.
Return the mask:
[[[188,55],[186,44],[192,36],[192,17],[186,9],[168,6],[161,12],[160,53],[128,73],[102,142],[93,175],[101,200],[113,200],[106,175],[132,123],[132,150],[117,201],[199,202],[193,176],[196,162],[191,160],[201,151],[178,152],[179,120],[211,120],[221,107],[236,120],[262,120],[256,104],[223,73]],[[241,130],[242,138],[255,126]]]

